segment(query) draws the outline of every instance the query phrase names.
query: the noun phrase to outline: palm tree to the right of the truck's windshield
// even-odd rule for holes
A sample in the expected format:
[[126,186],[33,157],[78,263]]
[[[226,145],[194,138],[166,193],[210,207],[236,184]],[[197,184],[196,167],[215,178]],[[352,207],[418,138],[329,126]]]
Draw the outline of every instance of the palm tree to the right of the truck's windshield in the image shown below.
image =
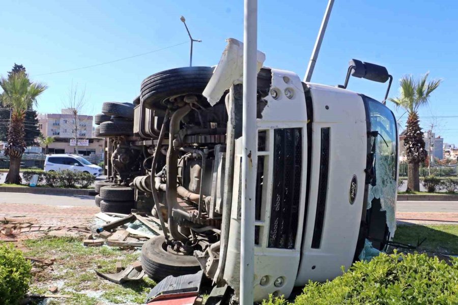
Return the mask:
[[407,190],[420,190],[420,173],[419,164],[427,156],[424,149],[423,132],[420,128],[418,118],[418,108],[428,104],[431,94],[439,87],[442,79],[427,81],[429,72],[422,75],[420,79],[415,80],[412,75],[404,76],[399,80],[399,97],[389,99],[396,104],[396,107],[402,107],[408,113],[406,123],[406,138],[404,147],[407,156]]

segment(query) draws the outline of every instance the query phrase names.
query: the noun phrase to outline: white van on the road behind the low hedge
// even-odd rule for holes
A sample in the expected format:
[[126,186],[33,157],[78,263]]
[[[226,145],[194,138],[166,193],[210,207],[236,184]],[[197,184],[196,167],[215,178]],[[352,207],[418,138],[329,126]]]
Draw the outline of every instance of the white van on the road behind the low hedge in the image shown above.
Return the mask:
[[100,166],[94,165],[88,160],[76,155],[55,154],[46,156],[44,171],[64,169],[87,172],[96,177],[102,174],[102,168]]

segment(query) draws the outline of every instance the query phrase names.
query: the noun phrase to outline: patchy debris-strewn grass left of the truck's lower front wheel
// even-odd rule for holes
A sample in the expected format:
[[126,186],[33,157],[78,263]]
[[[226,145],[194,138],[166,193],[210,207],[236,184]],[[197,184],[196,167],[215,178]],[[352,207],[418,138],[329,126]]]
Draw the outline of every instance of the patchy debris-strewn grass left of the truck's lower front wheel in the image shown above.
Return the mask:
[[43,237],[23,242],[26,257],[55,258],[52,268],[38,273],[31,286],[33,293],[49,293],[47,289],[58,286],[59,293],[71,294],[71,299],[49,299],[47,304],[95,305],[138,304],[145,301],[156,284],[145,277],[135,282],[115,284],[97,276],[94,271],[115,272],[117,261],[127,266],[139,259],[137,250],[109,247],[84,247],[76,238]]

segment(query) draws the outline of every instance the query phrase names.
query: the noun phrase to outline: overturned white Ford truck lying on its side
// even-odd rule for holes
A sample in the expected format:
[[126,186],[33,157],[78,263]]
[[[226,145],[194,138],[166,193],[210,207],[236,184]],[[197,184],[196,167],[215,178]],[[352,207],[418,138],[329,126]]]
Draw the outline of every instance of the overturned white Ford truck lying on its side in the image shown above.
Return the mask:
[[[105,211],[150,205],[163,234],[145,243],[142,265],[155,280],[203,269],[239,289],[240,67],[240,44],[230,40],[216,68],[153,74],[132,107],[132,132],[105,133],[113,172],[99,201]],[[366,240],[382,250],[394,234],[396,121],[383,103],[347,90],[350,76],[392,80],[384,67],[355,59],[336,87],[259,71],[255,301],[332,279]]]

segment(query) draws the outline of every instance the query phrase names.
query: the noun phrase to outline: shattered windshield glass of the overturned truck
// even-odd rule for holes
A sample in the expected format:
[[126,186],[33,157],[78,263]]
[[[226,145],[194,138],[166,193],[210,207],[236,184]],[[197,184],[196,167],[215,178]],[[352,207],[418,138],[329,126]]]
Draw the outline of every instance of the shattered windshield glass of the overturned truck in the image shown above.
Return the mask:
[[382,103],[366,98],[370,115],[370,136],[374,153],[373,180],[369,184],[367,209],[374,198],[380,199],[386,211],[386,224],[391,237],[396,230],[396,121],[393,113]]

